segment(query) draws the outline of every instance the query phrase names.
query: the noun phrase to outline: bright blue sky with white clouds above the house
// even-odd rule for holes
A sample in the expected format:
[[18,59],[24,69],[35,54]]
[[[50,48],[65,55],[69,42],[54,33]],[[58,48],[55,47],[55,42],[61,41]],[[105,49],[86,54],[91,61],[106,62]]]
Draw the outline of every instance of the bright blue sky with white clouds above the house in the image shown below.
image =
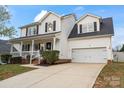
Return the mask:
[[59,15],[75,13],[77,19],[86,13],[92,13],[102,18],[112,17],[115,32],[112,45],[115,47],[124,43],[124,5],[10,5],[8,9],[12,15],[11,24],[17,30],[16,37],[20,36],[18,27],[37,21],[46,11],[52,11]]

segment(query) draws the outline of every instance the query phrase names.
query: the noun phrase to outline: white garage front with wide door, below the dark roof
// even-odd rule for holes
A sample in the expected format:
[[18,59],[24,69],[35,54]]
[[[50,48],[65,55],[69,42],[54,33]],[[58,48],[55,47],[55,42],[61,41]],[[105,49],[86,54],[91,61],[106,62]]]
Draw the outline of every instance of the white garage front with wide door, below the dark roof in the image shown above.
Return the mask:
[[111,38],[70,39],[68,58],[77,63],[107,63],[113,59]]

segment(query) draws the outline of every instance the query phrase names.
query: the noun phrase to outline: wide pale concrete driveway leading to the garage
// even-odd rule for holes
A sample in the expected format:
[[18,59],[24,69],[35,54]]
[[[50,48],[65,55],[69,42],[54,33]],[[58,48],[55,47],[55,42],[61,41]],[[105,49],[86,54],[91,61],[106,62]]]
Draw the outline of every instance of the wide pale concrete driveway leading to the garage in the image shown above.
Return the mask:
[[[30,65],[29,65],[30,66]],[[3,88],[91,88],[105,64],[68,63],[29,71],[0,81]]]

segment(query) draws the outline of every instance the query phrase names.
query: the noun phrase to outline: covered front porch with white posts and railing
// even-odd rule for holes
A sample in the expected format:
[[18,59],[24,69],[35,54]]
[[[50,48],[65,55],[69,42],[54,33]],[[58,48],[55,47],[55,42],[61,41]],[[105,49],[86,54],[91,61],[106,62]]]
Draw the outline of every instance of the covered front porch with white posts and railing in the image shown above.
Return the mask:
[[30,58],[32,60],[42,59],[42,52],[46,50],[59,50],[60,39],[55,35],[24,37],[11,40],[11,54],[13,57]]

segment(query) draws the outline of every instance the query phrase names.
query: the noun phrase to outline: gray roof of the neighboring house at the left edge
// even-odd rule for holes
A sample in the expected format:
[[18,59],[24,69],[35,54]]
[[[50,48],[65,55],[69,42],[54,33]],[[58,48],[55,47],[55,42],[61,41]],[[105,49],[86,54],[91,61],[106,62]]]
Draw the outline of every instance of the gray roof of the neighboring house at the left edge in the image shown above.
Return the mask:
[[7,40],[0,40],[0,55],[1,54],[9,54],[11,49],[11,45],[8,44]]

